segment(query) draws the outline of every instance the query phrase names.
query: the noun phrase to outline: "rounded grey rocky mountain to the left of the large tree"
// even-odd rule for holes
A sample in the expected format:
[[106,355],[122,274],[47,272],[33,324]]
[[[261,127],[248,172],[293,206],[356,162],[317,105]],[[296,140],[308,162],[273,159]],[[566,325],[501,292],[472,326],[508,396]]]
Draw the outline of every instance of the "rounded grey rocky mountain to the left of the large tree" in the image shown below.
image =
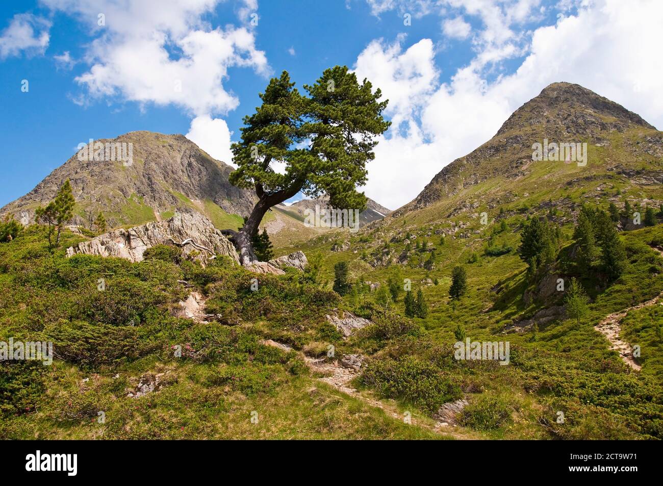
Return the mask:
[[241,225],[240,216],[253,208],[253,192],[228,182],[233,168],[183,135],[135,131],[97,142],[104,146],[125,143],[125,150],[131,143],[132,163],[80,160],[77,152],[28,194],[0,209],[0,215],[13,214],[23,223],[34,221],[34,209],[50,202],[66,179],[72,183],[74,223],[78,224],[88,224],[89,215],[99,211],[115,227],[166,219],[176,210],[192,209],[207,215],[217,227],[236,228]]

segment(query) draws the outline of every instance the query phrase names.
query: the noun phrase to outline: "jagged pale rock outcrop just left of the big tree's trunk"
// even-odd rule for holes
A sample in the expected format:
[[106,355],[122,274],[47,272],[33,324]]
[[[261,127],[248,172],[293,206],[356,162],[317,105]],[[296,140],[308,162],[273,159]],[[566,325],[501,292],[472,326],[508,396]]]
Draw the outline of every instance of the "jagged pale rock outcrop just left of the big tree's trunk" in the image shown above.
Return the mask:
[[143,260],[148,248],[163,243],[176,245],[186,254],[197,252],[198,261],[206,263],[212,257],[227,256],[239,265],[235,247],[216,229],[209,219],[198,213],[176,213],[166,221],[153,221],[145,225],[115,229],[90,241],[67,249],[67,256],[76,253],[119,257],[137,262]]

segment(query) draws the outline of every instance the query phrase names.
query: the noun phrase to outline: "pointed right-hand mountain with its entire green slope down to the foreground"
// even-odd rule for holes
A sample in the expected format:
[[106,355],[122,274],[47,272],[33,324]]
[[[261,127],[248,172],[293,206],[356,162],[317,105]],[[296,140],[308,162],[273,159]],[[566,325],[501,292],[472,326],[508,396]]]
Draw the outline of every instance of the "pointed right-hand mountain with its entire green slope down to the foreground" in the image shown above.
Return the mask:
[[[574,145],[577,160],[566,149],[543,156],[546,139],[586,143],[587,152]],[[320,254],[320,279],[330,282],[345,263],[349,312],[412,317],[421,337],[381,328],[383,348],[371,341],[353,351],[369,355],[360,383],[422,407],[422,389],[437,396],[428,387],[444,370],[463,393],[430,403],[443,430],[661,438],[662,221],[663,132],[592,91],[556,83],[406,206],[357,233],[339,230],[276,255]],[[526,251],[545,249],[539,261],[521,258],[522,235],[530,235]],[[607,273],[613,263],[618,276]],[[464,343],[493,352],[471,357]],[[495,363],[495,345],[510,346],[511,357]]]

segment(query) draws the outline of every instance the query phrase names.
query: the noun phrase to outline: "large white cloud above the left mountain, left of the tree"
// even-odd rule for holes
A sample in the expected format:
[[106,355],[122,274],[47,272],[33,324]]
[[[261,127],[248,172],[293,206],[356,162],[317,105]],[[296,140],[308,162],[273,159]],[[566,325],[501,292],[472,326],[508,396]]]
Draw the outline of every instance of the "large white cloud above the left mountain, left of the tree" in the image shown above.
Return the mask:
[[[43,0],[93,26],[86,60],[76,78],[93,97],[119,95],[129,101],[178,105],[194,116],[227,113],[239,100],[223,82],[228,68],[269,74],[265,53],[246,27],[211,29],[203,21],[219,0]],[[257,2],[247,2],[257,7]],[[98,26],[99,14],[105,25]]]

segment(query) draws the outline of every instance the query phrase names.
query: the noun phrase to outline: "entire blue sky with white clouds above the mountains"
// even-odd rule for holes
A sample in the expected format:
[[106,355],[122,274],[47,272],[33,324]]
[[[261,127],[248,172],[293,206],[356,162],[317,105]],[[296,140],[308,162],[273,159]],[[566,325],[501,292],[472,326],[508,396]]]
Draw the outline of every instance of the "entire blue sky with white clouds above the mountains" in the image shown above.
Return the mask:
[[[190,134],[229,162],[227,146],[239,137],[242,117],[284,69],[301,86],[345,64],[383,89],[394,125],[365,190],[392,209],[492,137],[550,82],[583,84],[660,128],[662,3],[3,2],[0,206],[90,138]],[[173,80],[183,85],[178,93]]]

